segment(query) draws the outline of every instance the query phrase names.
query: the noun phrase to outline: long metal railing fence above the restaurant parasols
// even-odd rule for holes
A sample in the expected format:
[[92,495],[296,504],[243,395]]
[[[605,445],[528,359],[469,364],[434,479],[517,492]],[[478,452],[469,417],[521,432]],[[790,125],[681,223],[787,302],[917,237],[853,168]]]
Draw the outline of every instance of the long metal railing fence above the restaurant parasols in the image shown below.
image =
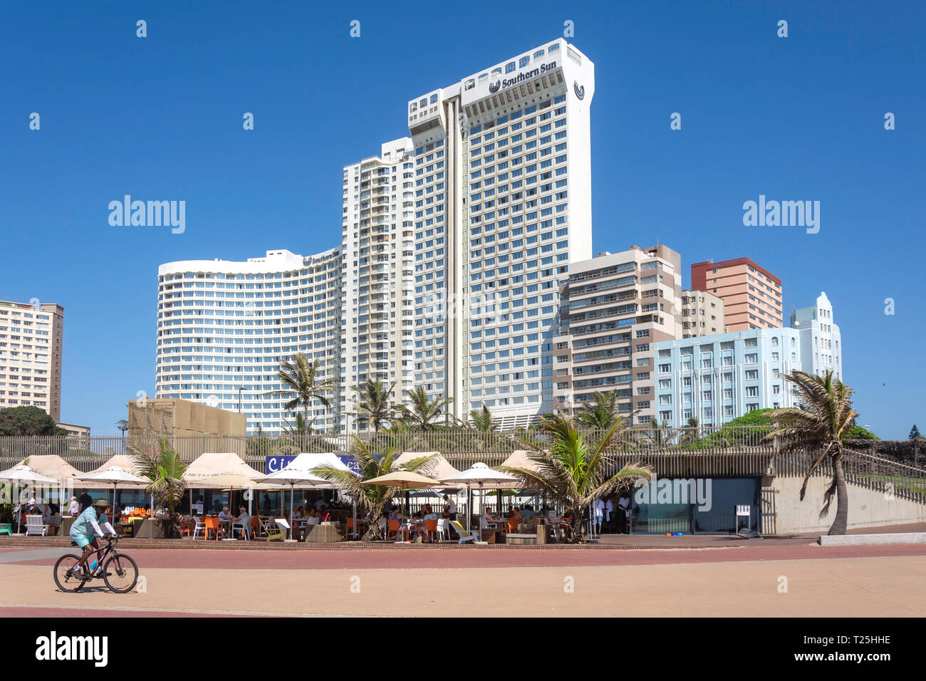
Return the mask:
[[[764,475],[803,475],[811,460],[806,451],[782,452],[767,435],[770,428],[720,426],[695,428],[646,428],[634,426],[614,438],[607,448],[610,461],[606,473],[614,473],[625,463],[650,466],[659,477],[759,477]],[[582,430],[589,446],[606,435],[604,431]],[[31,456],[57,454],[82,472],[102,465],[117,454],[155,451],[162,435],[132,433],[93,435],[78,442],[67,436],[0,437],[0,470],[10,468]],[[181,460],[192,461],[204,452],[234,452],[261,473],[266,472],[270,456],[299,452],[349,454],[363,446],[372,452],[388,448],[399,451],[441,452],[457,469],[482,461],[497,466],[517,449],[544,447],[547,438],[535,430],[479,433],[467,429],[428,433],[362,435],[176,435],[165,437]],[[919,460],[917,445],[912,452],[882,441],[877,448],[869,443],[851,443],[846,449],[845,475],[849,483],[879,489],[898,498],[926,502],[926,471],[907,465]],[[891,455],[903,450],[903,459],[892,460],[874,452]],[[819,475],[832,474],[829,464]]]

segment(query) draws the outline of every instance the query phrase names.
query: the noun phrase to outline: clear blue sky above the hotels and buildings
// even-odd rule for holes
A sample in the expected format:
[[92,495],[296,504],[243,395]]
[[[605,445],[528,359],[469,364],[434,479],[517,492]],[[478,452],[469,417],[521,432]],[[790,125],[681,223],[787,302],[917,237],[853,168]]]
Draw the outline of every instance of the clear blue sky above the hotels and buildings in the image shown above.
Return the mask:
[[[859,422],[926,426],[917,2],[4,3],[0,299],[65,306],[62,420],[115,433],[154,394],[158,264],[338,245],[342,168],[407,134],[407,100],[567,19],[595,64],[594,251],[666,244],[684,285],[752,258],[786,316],[826,291]],[[111,227],[125,194],[185,200],[185,233]],[[819,200],[820,233],[745,227],[760,194]]]

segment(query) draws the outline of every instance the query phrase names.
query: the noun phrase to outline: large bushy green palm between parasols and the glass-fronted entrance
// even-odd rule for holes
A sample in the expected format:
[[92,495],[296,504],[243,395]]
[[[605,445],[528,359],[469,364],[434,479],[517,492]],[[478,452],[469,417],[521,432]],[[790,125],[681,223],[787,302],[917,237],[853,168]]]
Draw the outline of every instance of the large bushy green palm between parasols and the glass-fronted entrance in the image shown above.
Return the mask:
[[599,442],[590,446],[569,417],[544,416],[541,418],[541,432],[551,439],[548,448],[521,440],[532,449],[528,458],[535,464],[536,470],[507,466],[502,470],[518,476],[524,487],[540,489],[544,496],[561,503],[569,511],[567,541],[579,543],[584,534],[582,511],[595,498],[607,497],[621,487],[630,487],[638,480],[653,477],[652,469],[632,462],[606,479],[606,467],[615,463],[606,450],[626,426],[627,422],[618,419]]

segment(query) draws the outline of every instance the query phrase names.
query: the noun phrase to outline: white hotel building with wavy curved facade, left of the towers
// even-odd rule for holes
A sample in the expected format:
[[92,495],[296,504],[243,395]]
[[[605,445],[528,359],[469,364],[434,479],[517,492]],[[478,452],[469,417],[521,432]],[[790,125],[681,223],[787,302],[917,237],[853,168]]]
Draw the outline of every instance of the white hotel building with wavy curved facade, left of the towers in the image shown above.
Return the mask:
[[[249,432],[294,422],[277,377],[297,352],[319,359],[319,380],[341,377],[340,248],[303,257],[181,260],[157,271],[155,397],[178,397],[247,415]],[[341,396],[332,392],[333,404]],[[318,405],[316,430],[334,416]]]

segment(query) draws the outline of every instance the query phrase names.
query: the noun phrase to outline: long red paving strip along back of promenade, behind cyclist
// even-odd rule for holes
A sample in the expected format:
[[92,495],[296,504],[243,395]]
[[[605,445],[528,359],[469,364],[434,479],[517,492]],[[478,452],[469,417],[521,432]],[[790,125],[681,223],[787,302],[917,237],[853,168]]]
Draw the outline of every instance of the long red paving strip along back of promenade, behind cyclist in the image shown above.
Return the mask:
[[[145,568],[194,570],[408,570],[459,568],[594,567],[599,565],[662,565],[700,562],[807,561],[827,558],[926,556],[926,544],[820,547],[757,546],[739,549],[681,549],[635,551],[419,551],[408,549],[229,551],[131,549],[126,551]],[[7,565],[54,565],[56,558],[11,561]]]

